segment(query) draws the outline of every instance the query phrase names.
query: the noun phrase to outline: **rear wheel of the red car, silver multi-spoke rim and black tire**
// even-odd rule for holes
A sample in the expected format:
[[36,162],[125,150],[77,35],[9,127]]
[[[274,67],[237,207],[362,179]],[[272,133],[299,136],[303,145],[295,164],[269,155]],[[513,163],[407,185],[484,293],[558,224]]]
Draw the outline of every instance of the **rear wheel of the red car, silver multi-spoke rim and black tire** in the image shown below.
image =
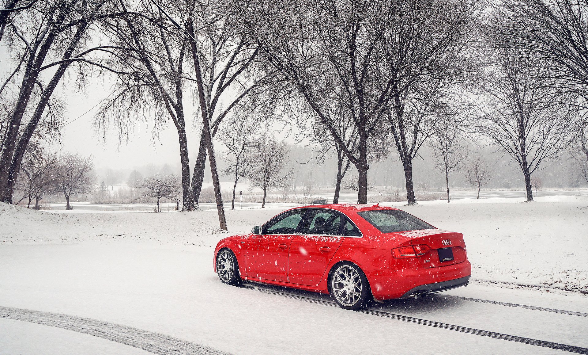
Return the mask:
[[359,266],[349,261],[342,261],[331,268],[328,283],[330,296],[346,310],[363,309],[373,297],[368,278]]

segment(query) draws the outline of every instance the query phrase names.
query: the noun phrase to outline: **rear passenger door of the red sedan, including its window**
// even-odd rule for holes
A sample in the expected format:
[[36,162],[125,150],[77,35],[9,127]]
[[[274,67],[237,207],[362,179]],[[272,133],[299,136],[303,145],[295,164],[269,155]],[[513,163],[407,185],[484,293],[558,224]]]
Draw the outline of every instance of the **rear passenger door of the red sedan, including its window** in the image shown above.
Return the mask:
[[346,218],[335,210],[312,208],[305,216],[301,235],[293,237],[288,258],[288,282],[316,286],[343,242]]

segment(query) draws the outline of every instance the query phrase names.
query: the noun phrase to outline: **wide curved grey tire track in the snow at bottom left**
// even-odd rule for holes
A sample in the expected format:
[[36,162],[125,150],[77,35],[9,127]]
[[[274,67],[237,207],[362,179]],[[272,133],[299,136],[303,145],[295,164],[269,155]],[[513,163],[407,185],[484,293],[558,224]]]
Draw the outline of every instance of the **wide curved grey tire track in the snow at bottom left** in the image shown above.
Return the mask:
[[223,351],[166,336],[165,334],[123,326],[122,324],[108,323],[92,318],[2,306],[0,306],[0,318],[28,321],[43,324],[44,326],[72,330],[78,333],[116,341],[116,343],[136,347],[159,355],[229,355]]

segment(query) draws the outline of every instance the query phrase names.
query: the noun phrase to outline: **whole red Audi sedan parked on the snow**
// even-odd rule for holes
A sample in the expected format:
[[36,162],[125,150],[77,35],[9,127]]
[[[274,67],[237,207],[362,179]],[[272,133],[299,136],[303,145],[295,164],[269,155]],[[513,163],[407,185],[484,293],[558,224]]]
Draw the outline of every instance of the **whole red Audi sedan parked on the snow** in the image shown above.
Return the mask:
[[220,240],[220,281],[242,280],[330,294],[358,310],[370,299],[418,297],[467,286],[472,265],[462,233],[439,230],[379,205],[296,207],[252,233]]

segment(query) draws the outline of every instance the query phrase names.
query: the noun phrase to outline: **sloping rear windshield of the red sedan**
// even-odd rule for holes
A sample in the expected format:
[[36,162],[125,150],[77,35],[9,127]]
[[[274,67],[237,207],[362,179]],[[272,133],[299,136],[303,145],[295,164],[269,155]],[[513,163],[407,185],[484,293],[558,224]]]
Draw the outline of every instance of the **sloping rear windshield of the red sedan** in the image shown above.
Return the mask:
[[372,210],[358,212],[358,214],[382,233],[435,229],[425,221],[401,210]]

